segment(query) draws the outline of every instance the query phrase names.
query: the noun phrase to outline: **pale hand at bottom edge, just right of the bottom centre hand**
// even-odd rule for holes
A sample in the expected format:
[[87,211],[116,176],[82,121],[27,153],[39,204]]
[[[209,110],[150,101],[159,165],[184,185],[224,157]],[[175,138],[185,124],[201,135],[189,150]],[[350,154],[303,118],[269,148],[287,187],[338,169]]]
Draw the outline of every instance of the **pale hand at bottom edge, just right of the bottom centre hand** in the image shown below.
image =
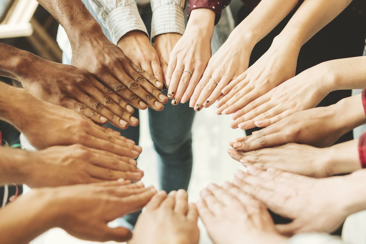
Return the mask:
[[208,185],[197,207],[214,244],[286,243],[265,206],[231,183]]

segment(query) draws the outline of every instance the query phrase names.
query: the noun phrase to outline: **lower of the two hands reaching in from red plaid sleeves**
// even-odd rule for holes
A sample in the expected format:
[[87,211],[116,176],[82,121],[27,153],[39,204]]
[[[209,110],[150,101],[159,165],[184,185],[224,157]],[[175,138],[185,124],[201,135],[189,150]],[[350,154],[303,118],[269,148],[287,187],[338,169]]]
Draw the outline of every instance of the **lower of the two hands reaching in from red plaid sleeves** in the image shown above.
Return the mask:
[[329,148],[320,149],[296,143],[249,152],[229,149],[230,156],[244,166],[254,165],[264,170],[272,167],[311,177],[332,176],[330,153]]

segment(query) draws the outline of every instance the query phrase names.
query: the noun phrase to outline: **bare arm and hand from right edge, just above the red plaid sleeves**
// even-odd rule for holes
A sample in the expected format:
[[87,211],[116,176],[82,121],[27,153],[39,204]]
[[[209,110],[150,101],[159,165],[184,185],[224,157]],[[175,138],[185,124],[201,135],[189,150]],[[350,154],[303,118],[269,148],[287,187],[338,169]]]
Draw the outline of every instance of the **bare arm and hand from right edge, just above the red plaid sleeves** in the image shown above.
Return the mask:
[[[240,123],[240,128],[244,123],[247,127],[266,127],[294,112],[314,108],[330,91],[362,89],[365,87],[362,82],[366,75],[365,64],[365,57],[355,57],[331,60],[309,68],[235,112],[234,123]],[[229,106],[230,110],[235,111],[235,106]]]

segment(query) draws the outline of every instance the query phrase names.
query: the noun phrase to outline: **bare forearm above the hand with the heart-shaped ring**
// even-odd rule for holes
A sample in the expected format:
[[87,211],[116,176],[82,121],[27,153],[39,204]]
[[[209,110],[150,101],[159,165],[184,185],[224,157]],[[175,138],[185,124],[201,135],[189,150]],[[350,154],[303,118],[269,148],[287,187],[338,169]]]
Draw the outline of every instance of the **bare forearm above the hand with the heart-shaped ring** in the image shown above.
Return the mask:
[[249,39],[255,45],[282,21],[298,2],[298,0],[262,0],[230,36]]

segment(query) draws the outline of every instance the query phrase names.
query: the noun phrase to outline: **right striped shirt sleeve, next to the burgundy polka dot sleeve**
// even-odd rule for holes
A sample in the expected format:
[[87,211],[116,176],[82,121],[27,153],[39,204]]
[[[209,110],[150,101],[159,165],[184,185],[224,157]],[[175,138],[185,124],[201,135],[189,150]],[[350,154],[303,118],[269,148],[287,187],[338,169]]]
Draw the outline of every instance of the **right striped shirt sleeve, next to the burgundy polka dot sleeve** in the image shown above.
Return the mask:
[[164,33],[184,33],[184,0],[152,0],[151,41]]

